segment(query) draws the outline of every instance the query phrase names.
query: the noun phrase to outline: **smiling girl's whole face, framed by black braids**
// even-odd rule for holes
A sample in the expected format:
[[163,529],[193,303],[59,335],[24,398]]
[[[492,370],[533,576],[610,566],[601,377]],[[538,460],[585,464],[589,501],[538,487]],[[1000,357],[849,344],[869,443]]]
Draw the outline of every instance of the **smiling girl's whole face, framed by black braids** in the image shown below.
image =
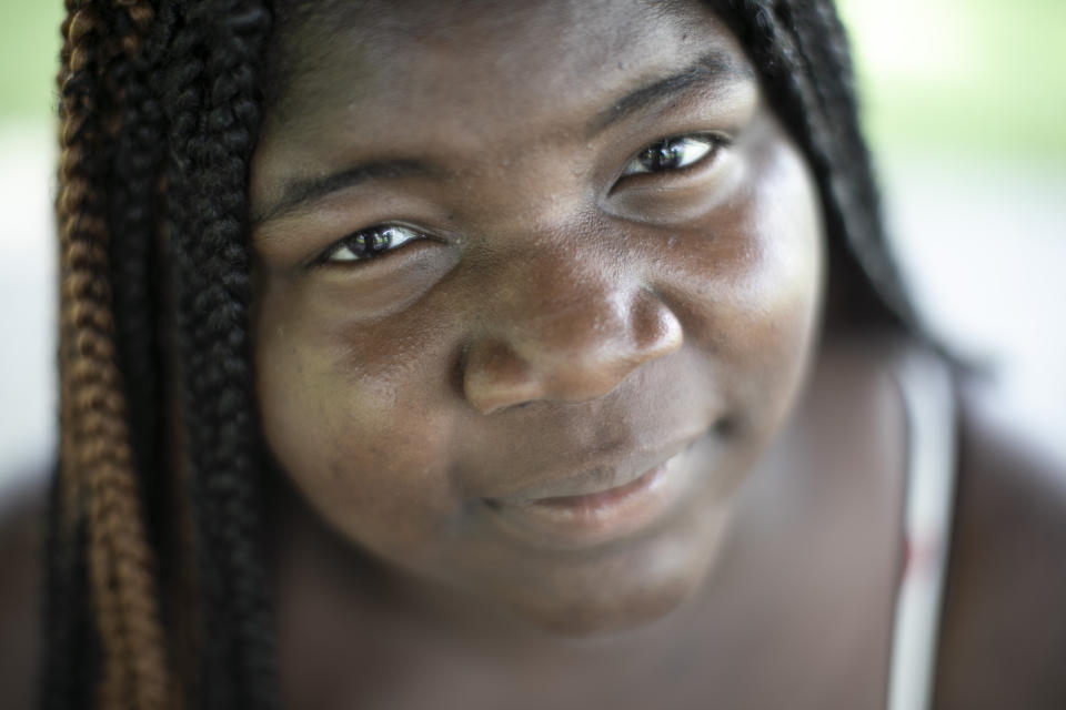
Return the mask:
[[661,616],[803,379],[802,155],[697,2],[339,7],[253,162],[272,453],[418,579],[570,633]]

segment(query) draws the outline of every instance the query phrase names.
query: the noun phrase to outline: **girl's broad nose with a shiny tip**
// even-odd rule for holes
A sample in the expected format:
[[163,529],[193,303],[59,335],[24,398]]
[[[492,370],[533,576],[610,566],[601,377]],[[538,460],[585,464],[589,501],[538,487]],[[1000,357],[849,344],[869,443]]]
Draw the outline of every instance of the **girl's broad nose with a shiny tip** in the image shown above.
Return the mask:
[[581,271],[551,257],[526,261],[486,310],[462,373],[466,400],[482,414],[595,399],[683,342],[681,323],[652,290],[626,284],[616,270]]

